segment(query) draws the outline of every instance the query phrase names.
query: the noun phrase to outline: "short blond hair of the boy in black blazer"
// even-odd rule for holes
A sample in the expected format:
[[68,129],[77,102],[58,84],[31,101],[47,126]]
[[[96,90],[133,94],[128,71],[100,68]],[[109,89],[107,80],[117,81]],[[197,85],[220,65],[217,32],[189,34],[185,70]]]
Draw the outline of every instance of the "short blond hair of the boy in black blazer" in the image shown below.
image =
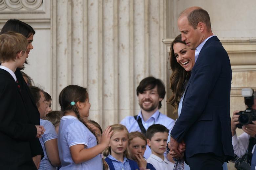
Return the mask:
[[26,52],[27,39],[20,33],[7,32],[0,35],[0,62],[15,61],[17,53]]

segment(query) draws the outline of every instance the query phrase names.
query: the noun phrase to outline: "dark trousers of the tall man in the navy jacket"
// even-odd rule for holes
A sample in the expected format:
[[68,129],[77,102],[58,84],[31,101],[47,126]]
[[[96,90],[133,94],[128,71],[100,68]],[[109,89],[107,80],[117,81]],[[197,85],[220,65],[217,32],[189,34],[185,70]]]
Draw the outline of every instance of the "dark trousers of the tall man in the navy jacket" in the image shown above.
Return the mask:
[[190,170],[223,170],[225,156],[217,156],[214,153],[199,153],[190,158],[186,157],[186,161]]

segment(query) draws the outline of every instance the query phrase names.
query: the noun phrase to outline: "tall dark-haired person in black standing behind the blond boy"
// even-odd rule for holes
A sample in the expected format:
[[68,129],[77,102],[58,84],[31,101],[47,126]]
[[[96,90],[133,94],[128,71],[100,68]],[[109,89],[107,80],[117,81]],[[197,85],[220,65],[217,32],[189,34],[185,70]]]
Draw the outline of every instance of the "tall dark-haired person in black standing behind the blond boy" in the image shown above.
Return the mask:
[[[33,49],[32,41],[33,41],[33,36],[35,34],[34,29],[30,25],[22,21],[19,21],[16,19],[10,19],[3,26],[0,34],[6,33],[8,31],[18,32],[27,38],[29,43],[27,47],[27,53],[29,54],[30,50]],[[22,77],[20,69],[16,69],[15,76],[17,77],[17,83],[20,86],[21,94],[25,101],[25,108],[27,110],[28,122],[32,125],[40,125],[40,114],[37,110],[35,102],[33,101],[32,94],[28,88],[28,85]],[[44,157],[44,152],[38,138],[35,138],[30,141],[30,148],[31,148],[31,155],[33,157],[33,161],[38,169],[40,160]]]

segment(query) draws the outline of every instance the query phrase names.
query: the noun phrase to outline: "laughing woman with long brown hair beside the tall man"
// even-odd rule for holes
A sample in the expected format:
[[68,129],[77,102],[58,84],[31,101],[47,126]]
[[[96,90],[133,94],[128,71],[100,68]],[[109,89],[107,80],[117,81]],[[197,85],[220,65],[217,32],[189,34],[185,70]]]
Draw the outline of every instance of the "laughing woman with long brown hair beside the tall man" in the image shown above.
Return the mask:
[[[171,44],[170,50],[170,66],[172,76],[170,77],[172,96],[168,99],[174,107],[174,112],[178,110],[178,115],[181,114],[182,101],[186,91],[186,85],[191,75],[196,59],[195,50],[189,49],[185,42],[181,41],[181,34],[178,35]],[[174,156],[175,157],[175,156]],[[189,170],[189,166],[180,160],[175,164],[174,170]],[[227,170],[227,163],[224,162],[223,169]]]

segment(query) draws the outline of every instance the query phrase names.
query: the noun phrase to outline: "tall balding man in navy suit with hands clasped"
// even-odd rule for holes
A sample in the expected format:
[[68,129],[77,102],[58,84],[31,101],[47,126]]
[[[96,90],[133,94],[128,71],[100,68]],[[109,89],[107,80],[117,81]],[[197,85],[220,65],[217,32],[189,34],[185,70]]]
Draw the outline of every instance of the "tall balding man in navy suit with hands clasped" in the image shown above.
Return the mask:
[[234,156],[230,126],[230,86],[232,71],[227,52],[211,31],[210,17],[200,7],[185,9],[178,27],[182,41],[196,50],[196,63],[187,84],[179,119],[168,147],[184,159],[190,170],[223,169]]

